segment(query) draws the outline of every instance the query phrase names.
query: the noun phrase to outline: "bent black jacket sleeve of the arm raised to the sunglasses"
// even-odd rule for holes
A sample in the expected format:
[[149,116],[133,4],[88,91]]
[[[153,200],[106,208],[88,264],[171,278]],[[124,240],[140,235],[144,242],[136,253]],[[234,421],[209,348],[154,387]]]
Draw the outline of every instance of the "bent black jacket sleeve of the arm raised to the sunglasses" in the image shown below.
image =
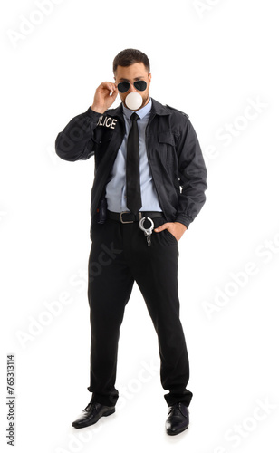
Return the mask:
[[55,140],[56,154],[64,160],[85,160],[94,154],[93,130],[97,127],[101,113],[91,107],[75,116]]

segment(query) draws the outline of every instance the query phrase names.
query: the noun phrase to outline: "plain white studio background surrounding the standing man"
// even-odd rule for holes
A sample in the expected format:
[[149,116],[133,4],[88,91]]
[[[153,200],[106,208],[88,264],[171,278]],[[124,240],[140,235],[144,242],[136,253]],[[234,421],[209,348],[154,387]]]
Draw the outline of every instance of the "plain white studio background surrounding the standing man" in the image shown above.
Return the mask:
[[[278,451],[277,2],[60,0],[38,15],[39,3],[1,5],[1,450],[12,352],[16,451]],[[120,333],[117,410],[72,428],[91,398],[94,162],[59,159],[54,140],[113,80],[112,60],[127,47],[149,55],[150,95],[188,113],[208,169],[207,202],[179,242],[194,396],[190,427],[173,438],[136,286]]]

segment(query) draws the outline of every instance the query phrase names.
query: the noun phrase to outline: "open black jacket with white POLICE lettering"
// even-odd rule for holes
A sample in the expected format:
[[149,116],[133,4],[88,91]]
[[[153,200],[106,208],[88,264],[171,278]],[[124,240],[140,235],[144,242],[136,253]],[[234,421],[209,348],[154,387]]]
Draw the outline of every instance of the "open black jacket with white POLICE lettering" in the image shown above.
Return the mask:
[[[55,141],[55,150],[61,159],[84,160],[94,155],[91,226],[97,221],[101,198],[124,135],[120,104],[102,115],[90,107],[74,117]],[[188,227],[203,207],[207,189],[205,161],[188,115],[152,99],[146,147],[165,217],[168,222],[176,221]]]

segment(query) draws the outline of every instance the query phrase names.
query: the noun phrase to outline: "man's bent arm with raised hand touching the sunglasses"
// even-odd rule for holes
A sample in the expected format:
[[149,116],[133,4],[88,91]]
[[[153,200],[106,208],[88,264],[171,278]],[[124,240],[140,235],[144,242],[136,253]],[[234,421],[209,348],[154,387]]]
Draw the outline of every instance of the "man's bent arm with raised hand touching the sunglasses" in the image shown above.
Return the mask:
[[56,154],[64,160],[85,160],[94,154],[93,130],[102,113],[109,109],[118,94],[112,82],[103,82],[97,88],[91,107],[75,116],[55,140]]

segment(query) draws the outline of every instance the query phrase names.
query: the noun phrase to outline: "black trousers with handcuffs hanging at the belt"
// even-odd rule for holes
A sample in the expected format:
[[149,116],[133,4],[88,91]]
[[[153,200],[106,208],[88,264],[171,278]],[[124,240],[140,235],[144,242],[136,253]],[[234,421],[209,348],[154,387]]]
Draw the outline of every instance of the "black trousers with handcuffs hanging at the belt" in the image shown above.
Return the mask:
[[[154,228],[166,223],[154,218]],[[149,224],[149,222],[147,222]],[[147,225],[149,226],[149,225]],[[193,396],[188,351],[179,319],[178,242],[167,230],[153,232],[151,246],[139,222],[122,224],[107,219],[92,226],[88,264],[88,300],[91,322],[92,399],[116,404],[115,388],[120,325],[134,282],[144,297],[159,342],[160,380],[168,406]]]

